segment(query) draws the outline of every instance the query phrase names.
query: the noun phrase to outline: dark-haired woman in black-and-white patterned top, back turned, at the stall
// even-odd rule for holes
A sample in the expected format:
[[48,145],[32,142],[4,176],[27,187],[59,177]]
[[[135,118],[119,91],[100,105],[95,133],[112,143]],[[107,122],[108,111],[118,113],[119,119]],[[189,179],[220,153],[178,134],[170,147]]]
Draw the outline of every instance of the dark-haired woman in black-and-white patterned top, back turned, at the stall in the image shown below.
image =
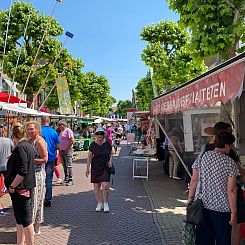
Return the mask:
[[236,224],[236,177],[234,160],[227,156],[235,137],[228,131],[215,137],[215,149],[201,153],[192,168],[188,203],[202,199],[204,223],[196,226],[196,244],[231,244],[231,225]]

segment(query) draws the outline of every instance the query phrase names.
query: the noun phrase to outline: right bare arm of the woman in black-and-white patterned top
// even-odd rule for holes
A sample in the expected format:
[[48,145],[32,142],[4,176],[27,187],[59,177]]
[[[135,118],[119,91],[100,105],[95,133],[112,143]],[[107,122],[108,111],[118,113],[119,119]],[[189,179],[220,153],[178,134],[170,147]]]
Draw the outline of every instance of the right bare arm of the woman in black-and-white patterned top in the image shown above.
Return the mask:
[[236,176],[228,177],[227,192],[228,201],[231,209],[231,220],[230,224],[236,224],[237,222],[237,190],[236,190]]

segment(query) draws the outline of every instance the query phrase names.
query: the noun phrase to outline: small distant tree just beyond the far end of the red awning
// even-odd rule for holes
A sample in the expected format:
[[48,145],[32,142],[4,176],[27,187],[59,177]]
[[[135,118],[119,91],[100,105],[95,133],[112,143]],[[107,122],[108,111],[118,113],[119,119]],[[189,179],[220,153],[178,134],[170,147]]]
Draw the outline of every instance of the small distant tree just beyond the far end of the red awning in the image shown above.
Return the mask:
[[150,73],[147,73],[146,77],[138,81],[135,90],[137,109],[140,111],[149,110],[151,101],[154,98]]

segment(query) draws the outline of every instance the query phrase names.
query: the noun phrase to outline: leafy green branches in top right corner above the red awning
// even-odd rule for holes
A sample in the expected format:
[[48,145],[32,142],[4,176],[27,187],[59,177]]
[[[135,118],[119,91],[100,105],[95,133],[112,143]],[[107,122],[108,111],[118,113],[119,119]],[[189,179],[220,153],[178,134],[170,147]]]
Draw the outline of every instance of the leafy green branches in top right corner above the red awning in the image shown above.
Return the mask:
[[230,58],[238,41],[245,42],[245,0],[167,0],[192,34],[191,48],[200,57]]

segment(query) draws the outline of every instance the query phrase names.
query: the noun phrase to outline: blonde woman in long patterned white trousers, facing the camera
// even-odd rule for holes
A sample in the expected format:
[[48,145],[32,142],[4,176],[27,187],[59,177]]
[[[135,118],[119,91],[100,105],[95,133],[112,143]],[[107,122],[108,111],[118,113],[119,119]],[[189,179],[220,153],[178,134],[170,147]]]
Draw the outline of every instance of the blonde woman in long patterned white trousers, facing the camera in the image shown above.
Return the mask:
[[44,199],[45,199],[45,164],[48,161],[48,150],[45,140],[41,137],[41,128],[37,121],[29,121],[26,124],[29,142],[35,149],[35,176],[37,186],[33,194],[33,222],[35,235],[40,235],[40,224],[44,222]]

